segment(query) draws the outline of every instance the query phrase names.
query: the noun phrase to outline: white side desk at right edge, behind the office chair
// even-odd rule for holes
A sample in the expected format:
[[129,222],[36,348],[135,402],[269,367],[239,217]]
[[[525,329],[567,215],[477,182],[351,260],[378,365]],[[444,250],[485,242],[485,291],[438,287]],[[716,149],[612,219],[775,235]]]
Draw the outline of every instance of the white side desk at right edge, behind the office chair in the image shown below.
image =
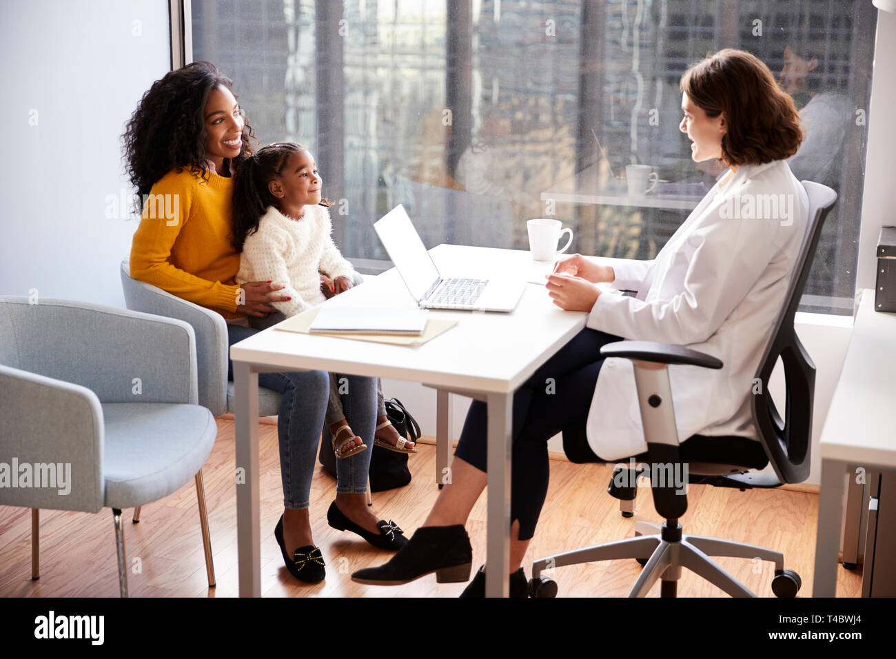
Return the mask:
[[840,380],[819,442],[822,484],[815,539],[814,597],[833,597],[845,474],[896,469],[896,314],[874,311],[874,290],[862,290]]

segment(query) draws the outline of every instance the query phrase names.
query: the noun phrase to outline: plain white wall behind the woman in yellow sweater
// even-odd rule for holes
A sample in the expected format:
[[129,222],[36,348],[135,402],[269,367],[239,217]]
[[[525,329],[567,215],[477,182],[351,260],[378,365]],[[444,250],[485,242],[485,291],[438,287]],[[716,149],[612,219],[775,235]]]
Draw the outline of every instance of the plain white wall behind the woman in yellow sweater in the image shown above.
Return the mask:
[[170,68],[168,3],[4,2],[0,60],[0,295],[124,307],[137,221],[109,199],[129,189],[125,121]]

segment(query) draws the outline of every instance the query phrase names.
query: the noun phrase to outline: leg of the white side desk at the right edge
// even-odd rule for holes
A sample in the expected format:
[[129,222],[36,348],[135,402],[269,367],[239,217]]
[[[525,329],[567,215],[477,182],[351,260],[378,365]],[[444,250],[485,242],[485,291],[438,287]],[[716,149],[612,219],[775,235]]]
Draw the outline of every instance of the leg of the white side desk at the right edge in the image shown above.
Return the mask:
[[847,464],[822,458],[822,485],[818,495],[818,529],[815,536],[813,597],[837,593],[837,548],[843,514],[843,473]]

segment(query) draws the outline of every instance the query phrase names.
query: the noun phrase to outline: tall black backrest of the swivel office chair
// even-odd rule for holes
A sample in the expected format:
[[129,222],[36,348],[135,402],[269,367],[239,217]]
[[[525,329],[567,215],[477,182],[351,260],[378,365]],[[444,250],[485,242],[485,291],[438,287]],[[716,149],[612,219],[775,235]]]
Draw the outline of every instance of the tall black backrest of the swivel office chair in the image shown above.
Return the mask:
[[[818,246],[824,219],[837,200],[837,193],[830,187],[811,181],[803,181],[803,186],[809,197],[806,236],[794,265],[795,276],[790,281],[784,308],[775,321],[771,342],[756,371],[761,390],[751,400],[753,419],[762,447],[782,482],[802,482],[809,475],[815,365],[797,337],[793,320],[812,269],[815,247]],[[787,383],[783,421],[769,391],[771,371],[779,357]]]

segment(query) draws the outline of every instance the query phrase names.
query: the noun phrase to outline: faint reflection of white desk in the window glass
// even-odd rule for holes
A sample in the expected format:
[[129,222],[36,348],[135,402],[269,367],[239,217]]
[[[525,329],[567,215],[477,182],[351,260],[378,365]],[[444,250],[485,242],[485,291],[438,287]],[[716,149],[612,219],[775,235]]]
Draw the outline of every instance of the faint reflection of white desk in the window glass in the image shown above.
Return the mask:
[[[658,190],[664,184],[660,183]],[[699,186],[698,186],[699,187]],[[582,169],[578,174],[556,184],[541,193],[541,201],[569,202],[572,204],[599,204],[639,208],[662,208],[668,211],[693,211],[709,192],[669,195],[651,191],[646,195],[629,195],[624,180],[607,178],[600,172],[600,163]]]

